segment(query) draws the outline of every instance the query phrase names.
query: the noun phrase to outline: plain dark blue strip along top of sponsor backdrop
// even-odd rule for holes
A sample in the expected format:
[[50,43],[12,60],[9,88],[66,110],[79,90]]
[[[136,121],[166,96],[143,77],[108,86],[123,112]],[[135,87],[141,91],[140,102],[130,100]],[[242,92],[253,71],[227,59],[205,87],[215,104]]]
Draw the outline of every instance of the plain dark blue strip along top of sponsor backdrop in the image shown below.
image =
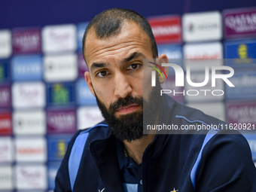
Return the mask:
[[80,23],[108,8],[132,9],[149,17],[252,6],[256,6],[254,0],[1,0],[0,29]]

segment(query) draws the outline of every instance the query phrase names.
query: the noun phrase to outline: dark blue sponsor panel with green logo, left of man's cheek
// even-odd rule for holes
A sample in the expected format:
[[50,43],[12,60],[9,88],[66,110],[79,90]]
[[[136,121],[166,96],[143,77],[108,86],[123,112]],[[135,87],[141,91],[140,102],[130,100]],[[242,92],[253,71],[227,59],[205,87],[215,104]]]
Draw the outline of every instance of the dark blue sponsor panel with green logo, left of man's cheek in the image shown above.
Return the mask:
[[49,84],[47,87],[48,105],[75,104],[75,86],[73,83]]

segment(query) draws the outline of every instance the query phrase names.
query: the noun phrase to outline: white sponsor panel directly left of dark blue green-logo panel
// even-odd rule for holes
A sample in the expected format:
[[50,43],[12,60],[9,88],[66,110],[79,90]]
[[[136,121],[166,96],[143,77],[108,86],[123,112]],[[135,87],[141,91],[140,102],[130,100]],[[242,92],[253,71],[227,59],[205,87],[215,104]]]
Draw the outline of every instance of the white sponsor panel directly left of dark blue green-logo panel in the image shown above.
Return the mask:
[[14,83],[12,86],[12,100],[14,108],[44,107],[44,83]]

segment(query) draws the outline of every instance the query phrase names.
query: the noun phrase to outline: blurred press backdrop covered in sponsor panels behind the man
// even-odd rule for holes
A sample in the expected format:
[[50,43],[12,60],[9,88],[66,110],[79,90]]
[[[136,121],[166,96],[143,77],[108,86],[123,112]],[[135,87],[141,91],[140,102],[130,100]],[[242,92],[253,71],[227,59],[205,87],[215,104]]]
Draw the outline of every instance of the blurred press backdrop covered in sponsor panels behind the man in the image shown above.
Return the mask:
[[[184,69],[195,59],[235,69],[224,96],[172,96],[227,123],[256,126],[256,3],[244,1],[31,1],[0,3],[0,191],[52,191],[77,130],[103,120],[84,81],[82,38],[108,8],[148,19],[159,55]],[[181,62],[184,61],[184,62]],[[196,63],[196,62],[195,62]],[[200,66],[193,82],[203,81]],[[177,92],[175,73],[166,86]],[[189,89],[189,85],[185,84]],[[164,87],[163,87],[164,89]],[[217,89],[217,88],[216,88]],[[256,128],[256,127],[255,127]],[[254,131],[256,133],[256,130]],[[256,134],[245,134],[256,162]]]

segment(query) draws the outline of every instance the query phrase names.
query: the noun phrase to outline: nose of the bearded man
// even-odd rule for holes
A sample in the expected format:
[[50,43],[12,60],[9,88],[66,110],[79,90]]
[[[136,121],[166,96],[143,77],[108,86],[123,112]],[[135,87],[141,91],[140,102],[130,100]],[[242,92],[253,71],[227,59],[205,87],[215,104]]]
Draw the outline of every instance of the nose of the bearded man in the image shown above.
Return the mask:
[[114,95],[124,98],[132,93],[129,77],[123,73],[117,73],[114,77]]

